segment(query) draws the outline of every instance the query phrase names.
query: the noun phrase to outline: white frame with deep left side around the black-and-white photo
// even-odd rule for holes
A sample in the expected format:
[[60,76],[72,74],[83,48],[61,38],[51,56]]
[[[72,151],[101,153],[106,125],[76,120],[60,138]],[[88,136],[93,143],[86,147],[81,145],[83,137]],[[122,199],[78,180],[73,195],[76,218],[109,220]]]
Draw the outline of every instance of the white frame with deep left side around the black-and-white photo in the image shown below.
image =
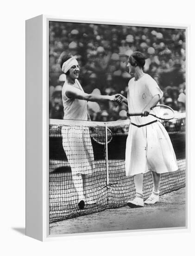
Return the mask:
[[[188,38],[189,25],[138,24],[137,22],[110,20],[66,20],[40,15],[26,20],[26,235],[40,241],[51,241],[59,237],[79,234],[49,234],[49,21],[96,23],[142,27],[181,28],[186,30],[186,81],[188,84]],[[187,113],[188,113],[187,86]],[[188,118],[187,136],[188,141]],[[189,229],[189,162],[186,144],[186,226],[183,228],[143,229],[140,231],[171,232],[175,229]],[[35,221],[36,220],[36,221]],[[118,232],[136,232],[123,230]],[[117,231],[109,231],[115,233]],[[84,235],[92,235],[86,233]],[[105,234],[105,232],[100,232]]]

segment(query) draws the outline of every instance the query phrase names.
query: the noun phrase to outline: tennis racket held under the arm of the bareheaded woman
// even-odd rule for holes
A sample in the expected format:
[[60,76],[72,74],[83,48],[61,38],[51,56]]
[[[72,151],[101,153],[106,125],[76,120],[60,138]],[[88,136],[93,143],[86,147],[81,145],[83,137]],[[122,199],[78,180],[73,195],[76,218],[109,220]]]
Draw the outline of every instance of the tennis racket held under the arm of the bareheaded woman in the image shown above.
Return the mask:
[[[137,116],[142,115],[142,113],[127,113],[127,116]],[[166,105],[157,105],[151,109],[149,115],[152,115],[161,120],[173,119],[175,114],[172,108]]]

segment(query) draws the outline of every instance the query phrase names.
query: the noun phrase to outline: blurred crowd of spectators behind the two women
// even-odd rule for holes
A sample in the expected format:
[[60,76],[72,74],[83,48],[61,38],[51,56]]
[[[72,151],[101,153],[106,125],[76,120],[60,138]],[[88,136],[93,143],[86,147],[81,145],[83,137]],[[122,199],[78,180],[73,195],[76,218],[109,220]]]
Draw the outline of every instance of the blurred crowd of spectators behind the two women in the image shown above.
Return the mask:
[[[65,75],[60,62],[75,56],[79,81],[86,93],[126,96],[131,75],[127,59],[133,51],[145,54],[144,72],[163,90],[160,103],[185,112],[185,30],[50,21],[50,118],[63,119],[61,90]],[[125,120],[127,106],[88,102],[92,121]]]

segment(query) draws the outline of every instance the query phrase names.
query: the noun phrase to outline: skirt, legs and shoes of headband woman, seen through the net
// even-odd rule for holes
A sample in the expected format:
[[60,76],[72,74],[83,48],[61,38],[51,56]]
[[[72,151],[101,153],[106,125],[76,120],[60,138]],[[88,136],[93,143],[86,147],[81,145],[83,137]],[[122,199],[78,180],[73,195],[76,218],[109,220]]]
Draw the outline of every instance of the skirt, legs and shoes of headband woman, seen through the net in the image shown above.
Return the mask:
[[[93,148],[87,128],[66,127],[62,129],[63,149],[72,171],[72,179],[79,198],[79,208],[92,204],[85,199],[82,175],[91,174],[94,168]],[[90,156],[89,156],[90,152]]]

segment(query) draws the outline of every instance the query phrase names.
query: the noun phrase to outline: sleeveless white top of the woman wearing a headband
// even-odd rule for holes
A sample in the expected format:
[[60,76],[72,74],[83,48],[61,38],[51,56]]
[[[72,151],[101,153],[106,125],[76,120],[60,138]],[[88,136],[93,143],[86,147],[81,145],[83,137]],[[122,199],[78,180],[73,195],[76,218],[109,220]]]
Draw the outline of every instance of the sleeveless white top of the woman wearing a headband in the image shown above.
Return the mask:
[[69,85],[66,81],[64,82],[62,88],[62,100],[63,100],[63,111],[64,117],[63,119],[72,119],[72,120],[88,120],[88,112],[87,112],[87,101],[71,99],[66,95],[66,91],[69,87],[75,87],[78,90],[82,90],[82,86],[80,82],[75,79],[74,85]]

